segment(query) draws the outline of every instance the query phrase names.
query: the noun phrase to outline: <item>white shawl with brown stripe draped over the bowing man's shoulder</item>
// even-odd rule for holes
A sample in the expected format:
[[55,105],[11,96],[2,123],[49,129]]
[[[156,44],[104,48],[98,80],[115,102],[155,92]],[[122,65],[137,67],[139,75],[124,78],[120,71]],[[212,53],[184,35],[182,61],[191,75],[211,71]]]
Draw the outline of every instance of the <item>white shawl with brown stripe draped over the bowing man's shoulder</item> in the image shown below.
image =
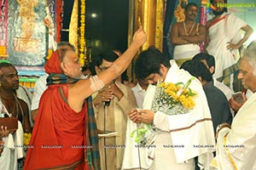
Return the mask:
[[[171,60],[171,65],[165,82],[186,83],[192,77],[188,71],[180,70],[175,61]],[[177,162],[187,161],[195,156],[203,156],[199,157],[199,161],[205,160],[205,154],[211,155],[215,150],[212,116],[201,82],[195,79],[189,88],[197,93],[193,110],[187,114],[169,116],[172,144],[184,145],[183,148],[174,149]],[[201,163],[206,167],[209,162]]]

